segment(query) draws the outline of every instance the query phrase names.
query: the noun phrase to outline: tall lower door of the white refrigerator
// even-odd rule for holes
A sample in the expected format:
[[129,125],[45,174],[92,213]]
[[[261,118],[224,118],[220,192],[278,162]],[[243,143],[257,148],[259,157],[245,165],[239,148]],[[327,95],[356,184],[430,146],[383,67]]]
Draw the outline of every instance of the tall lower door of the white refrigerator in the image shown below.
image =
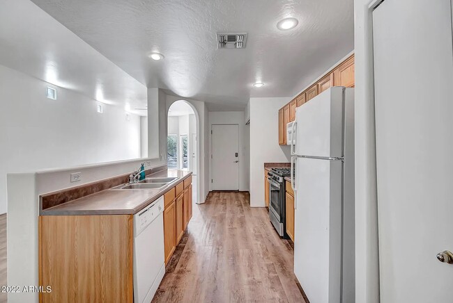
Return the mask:
[[298,158],[294,272],[310,302],[341,295],[341,161]]

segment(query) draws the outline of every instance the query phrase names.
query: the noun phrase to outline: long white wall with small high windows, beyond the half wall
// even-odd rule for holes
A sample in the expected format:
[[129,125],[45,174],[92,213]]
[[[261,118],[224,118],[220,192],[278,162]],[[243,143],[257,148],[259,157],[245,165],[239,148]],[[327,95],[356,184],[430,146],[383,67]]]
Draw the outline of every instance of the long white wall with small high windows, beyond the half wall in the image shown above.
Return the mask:
[[[6,173],[140,158],[140,120],[123,108],[57,88],[0,65],[0,213],[7,211]],[[49,85],[52,86],[52,85]]]

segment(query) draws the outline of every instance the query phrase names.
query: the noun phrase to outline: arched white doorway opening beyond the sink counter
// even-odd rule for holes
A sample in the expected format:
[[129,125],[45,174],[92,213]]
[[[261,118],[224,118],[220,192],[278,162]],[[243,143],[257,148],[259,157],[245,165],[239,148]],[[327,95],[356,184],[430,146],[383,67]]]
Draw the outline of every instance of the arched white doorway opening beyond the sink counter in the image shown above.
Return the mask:
[[199,116],[185,100],[171,103],[167,112],[167,165],[192,171],[193,201],[199,203]]

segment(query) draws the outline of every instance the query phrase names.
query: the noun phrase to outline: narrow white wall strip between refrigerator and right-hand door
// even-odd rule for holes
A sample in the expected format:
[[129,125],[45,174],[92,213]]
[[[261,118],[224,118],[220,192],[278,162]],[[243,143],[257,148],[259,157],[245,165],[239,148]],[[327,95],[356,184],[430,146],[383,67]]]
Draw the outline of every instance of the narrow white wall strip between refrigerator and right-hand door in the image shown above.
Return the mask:
[[355,302],[379,302],[371,0],[355,0]]

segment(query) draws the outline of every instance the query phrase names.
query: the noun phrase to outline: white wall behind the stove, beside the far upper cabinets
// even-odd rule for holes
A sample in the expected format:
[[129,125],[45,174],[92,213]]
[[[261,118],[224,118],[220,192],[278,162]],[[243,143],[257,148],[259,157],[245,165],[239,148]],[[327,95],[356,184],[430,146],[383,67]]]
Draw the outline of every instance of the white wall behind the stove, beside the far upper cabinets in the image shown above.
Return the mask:
[[264,163],[289,162],[289,146],[278,144],[278,110],[291,99],[250,98],[250,206],[264,207]]

